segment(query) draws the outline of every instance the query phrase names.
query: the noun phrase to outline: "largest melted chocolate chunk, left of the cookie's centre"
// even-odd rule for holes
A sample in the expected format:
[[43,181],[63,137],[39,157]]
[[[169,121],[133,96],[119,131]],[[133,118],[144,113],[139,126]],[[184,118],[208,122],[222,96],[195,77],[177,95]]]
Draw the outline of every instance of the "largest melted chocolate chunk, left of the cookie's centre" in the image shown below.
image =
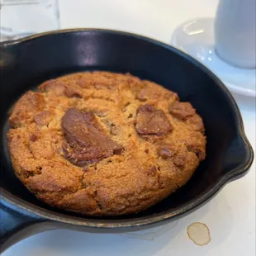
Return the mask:
[[69,108],[62,117],[62,129],[64,155],[73,164],[83,166],[121,154],[121,145],[108,137],[92,112]]

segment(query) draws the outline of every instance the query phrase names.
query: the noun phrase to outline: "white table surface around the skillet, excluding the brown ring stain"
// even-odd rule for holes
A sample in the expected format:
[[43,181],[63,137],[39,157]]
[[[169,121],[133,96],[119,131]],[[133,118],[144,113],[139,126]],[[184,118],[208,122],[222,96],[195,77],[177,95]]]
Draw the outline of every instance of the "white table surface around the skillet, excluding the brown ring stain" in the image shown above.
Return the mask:
[[[63,28],[101,27],[131,31],[169,42],[173,30],[194,17],[213,17],[216,0],[59,0]],[[255,99],[235,96],[255,150]],[[187,225],[205,223],[211,242],[187,237]],[[255,255],[255,163],[205,206],[163,227],[125,235],[54,230],[24,239],[2,256],[76,255]]]

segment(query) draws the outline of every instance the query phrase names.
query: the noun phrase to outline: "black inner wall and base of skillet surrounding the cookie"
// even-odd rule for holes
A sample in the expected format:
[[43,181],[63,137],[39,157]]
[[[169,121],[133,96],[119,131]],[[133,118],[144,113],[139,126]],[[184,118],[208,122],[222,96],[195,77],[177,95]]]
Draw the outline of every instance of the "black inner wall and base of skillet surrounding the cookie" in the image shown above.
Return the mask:
[[[196,60],[168,45],[115,31],[64,31],[6,45],[2,47],[2,55],[1,186],[39,209],[78,216],[46,206],[17,180],[7,151],[7,118],[22,93],[65,73],[92,69],[130,72],[178,92],[182,101],[192,102],[205,122],[207,157],[187,185],[148,211],[111,218],[116,223],[189,211],[211,197],[229,178],[244,173],[251,161],[239,111],[229,92]],[[239,165],[241,168],[234,171]],[[97,220],[87,217],[92,219]]]

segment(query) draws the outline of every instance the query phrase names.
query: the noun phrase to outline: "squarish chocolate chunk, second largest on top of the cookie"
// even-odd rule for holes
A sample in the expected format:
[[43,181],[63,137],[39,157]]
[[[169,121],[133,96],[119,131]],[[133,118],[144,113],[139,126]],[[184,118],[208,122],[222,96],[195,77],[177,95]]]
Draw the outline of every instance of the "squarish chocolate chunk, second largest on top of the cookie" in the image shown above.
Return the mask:
[[164,111],[149,104],[138,108],[135,128],[140,135],[164,135],[172,130]]

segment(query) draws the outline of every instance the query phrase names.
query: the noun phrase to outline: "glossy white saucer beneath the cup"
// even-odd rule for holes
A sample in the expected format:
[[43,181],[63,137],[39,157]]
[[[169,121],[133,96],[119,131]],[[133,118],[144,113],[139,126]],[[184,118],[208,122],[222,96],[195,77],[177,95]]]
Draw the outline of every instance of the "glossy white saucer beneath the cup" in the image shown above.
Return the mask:
[[231,92],[256,97],[256,69],[240,69],[221,60],[215,51],[214,19],[187,21],[174,31],[171,45],[206,65]]

